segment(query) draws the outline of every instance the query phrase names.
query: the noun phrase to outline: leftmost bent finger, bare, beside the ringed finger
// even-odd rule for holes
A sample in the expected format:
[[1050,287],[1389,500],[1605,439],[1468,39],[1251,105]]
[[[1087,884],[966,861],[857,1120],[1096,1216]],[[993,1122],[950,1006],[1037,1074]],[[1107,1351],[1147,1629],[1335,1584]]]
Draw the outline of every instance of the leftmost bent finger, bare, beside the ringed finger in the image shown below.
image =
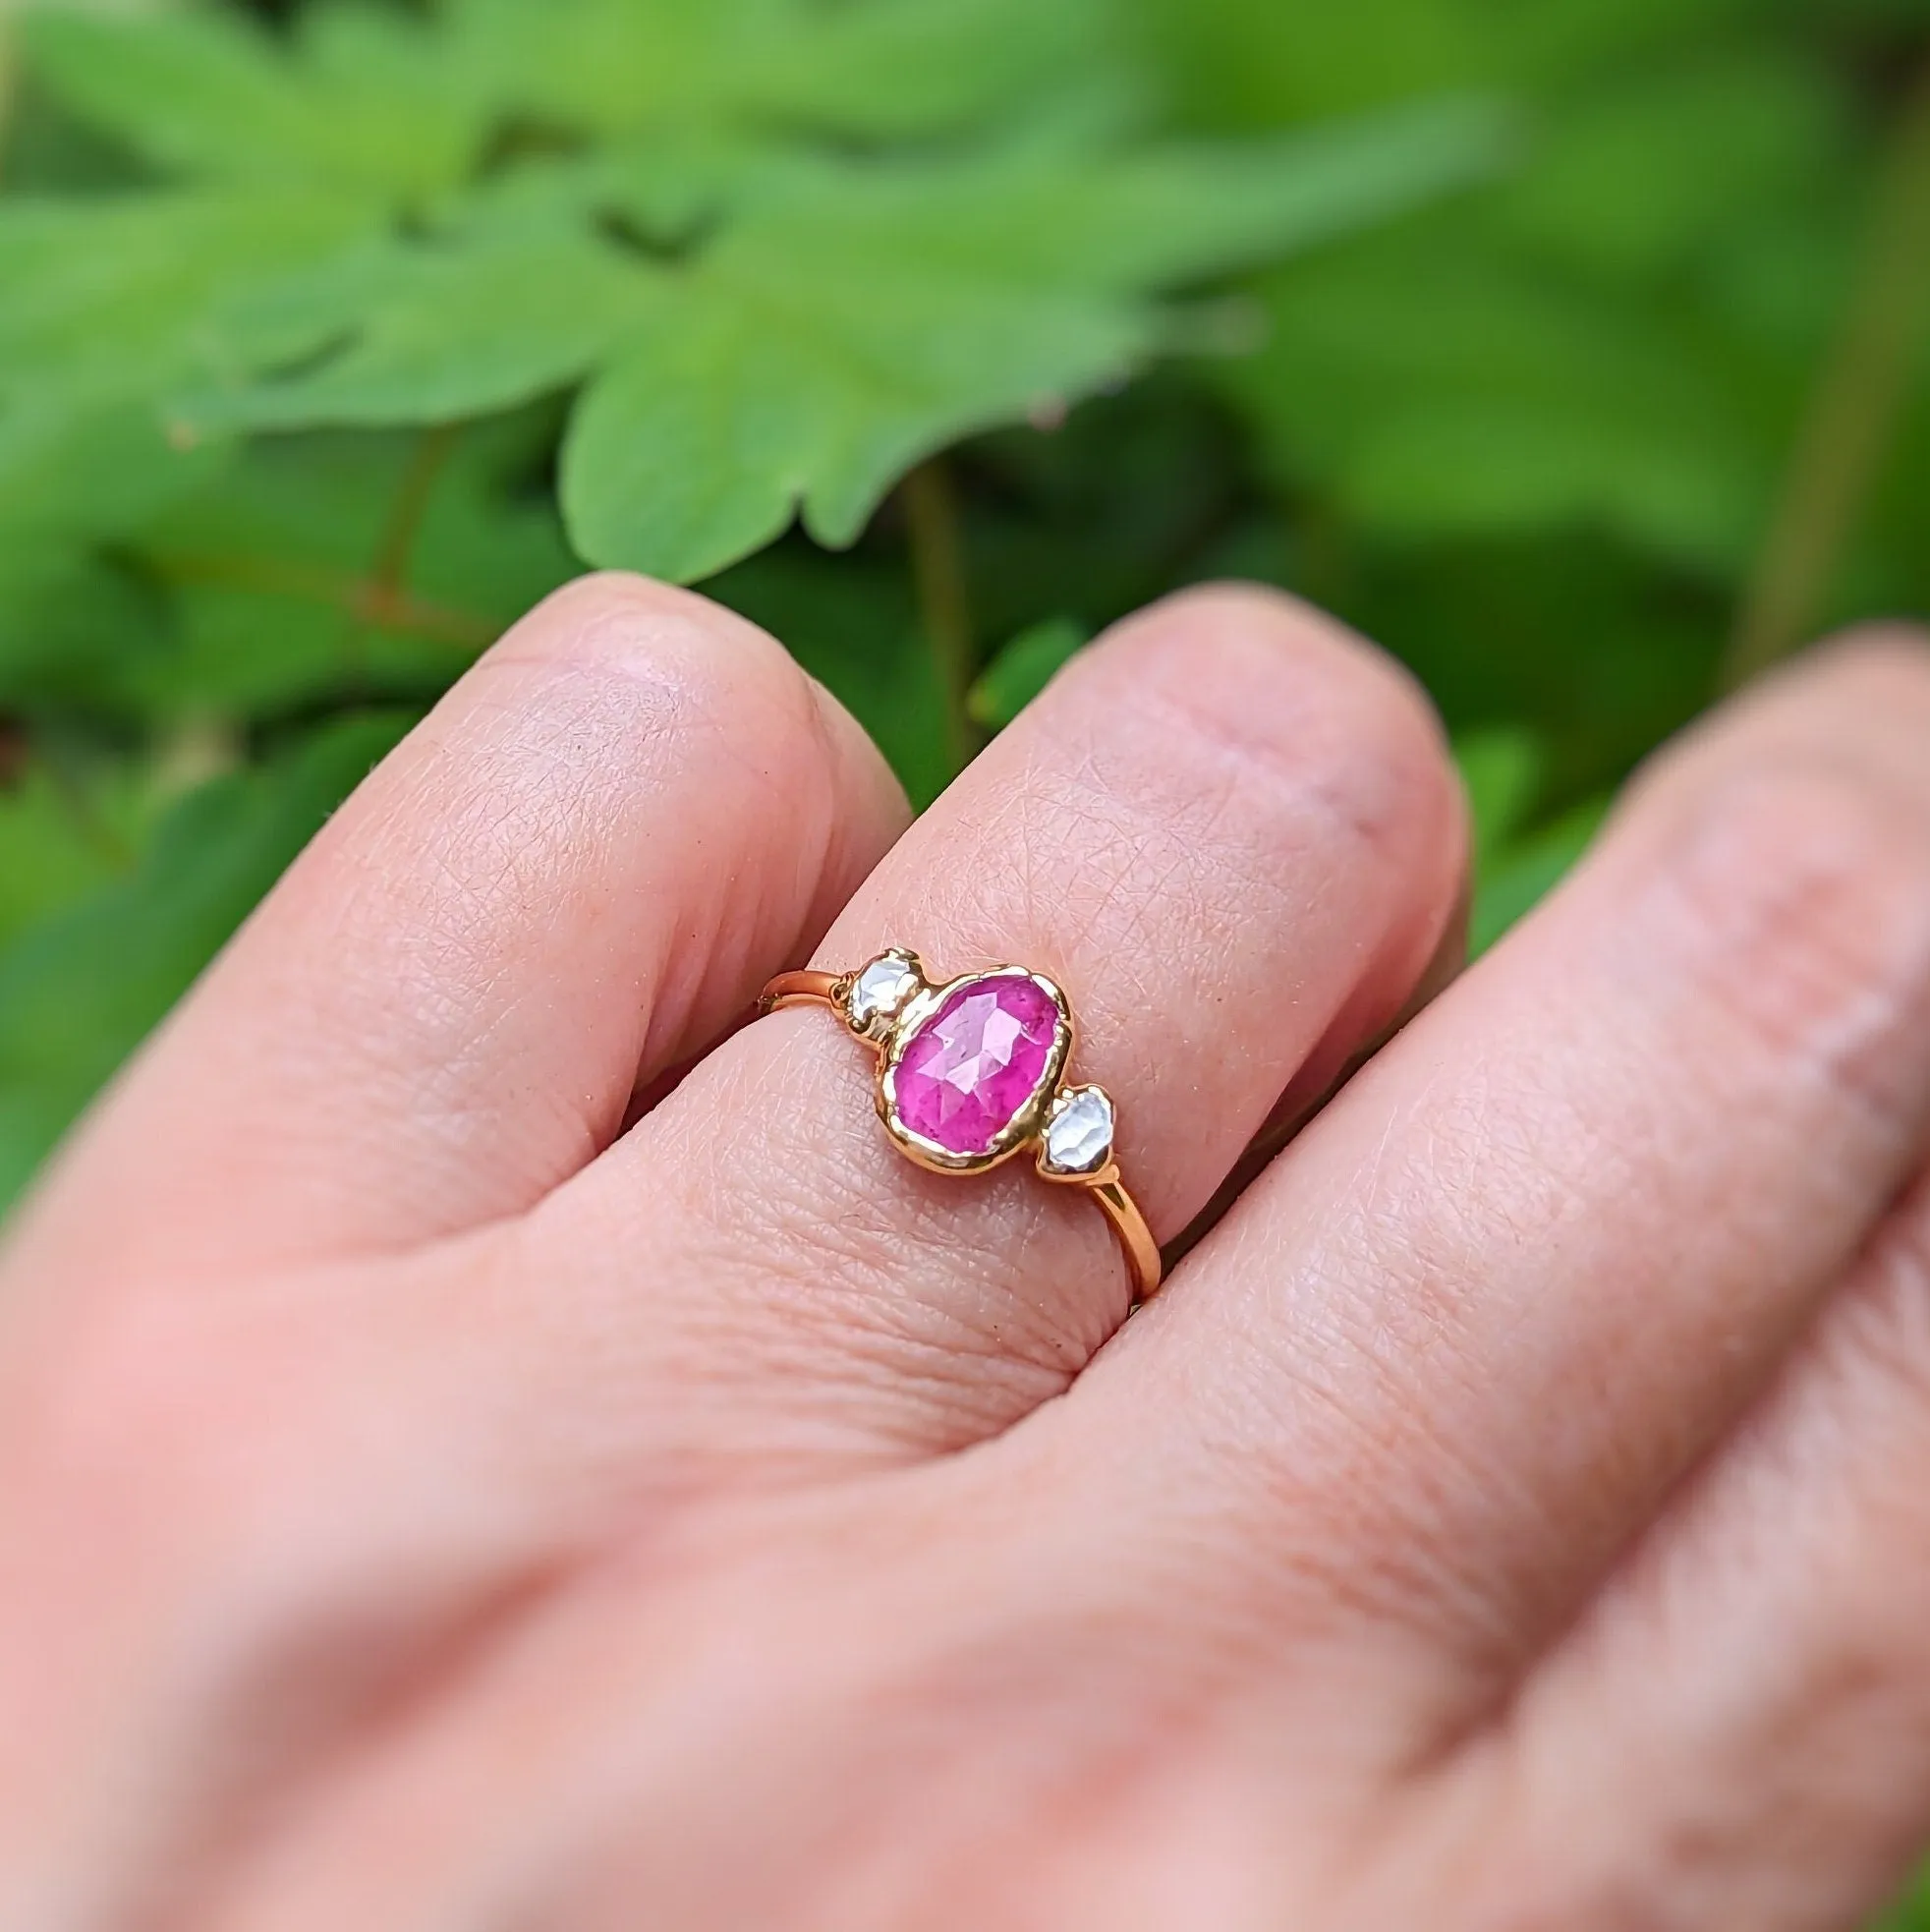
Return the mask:
[[106,1279],[137,1240],[191,1275],[525,1208],[809,949],[902,817],[752,624],[634,578],[560,591],[162,1030],[43,1196],[33,1269]]

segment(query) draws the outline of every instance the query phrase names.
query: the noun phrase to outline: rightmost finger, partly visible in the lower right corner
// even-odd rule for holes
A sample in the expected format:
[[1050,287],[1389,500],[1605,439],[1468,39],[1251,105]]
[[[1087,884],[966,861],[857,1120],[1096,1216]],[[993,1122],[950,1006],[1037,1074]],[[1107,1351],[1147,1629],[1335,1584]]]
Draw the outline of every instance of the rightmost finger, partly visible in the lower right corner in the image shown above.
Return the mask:
[[1549,1924],[1835,1932],[1895,1889],[1930,1841],[1926,1468],[1930,1179],[1453,1768],[1443,1803],[1559,1874]]

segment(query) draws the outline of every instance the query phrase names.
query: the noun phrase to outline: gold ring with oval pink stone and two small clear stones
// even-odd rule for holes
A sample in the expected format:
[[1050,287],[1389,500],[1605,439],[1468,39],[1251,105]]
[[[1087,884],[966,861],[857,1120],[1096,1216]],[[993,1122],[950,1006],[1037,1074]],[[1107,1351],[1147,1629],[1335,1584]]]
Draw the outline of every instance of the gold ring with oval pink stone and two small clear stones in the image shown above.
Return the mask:
[[1119,1179],[1117,1109],[1097,1086],[1066,1086],[1072,1007],[1045,974],[993,966],[935,983],[893,947],[858,972],[779,974],[757,1001],[829,1007],[877,1055],[877,1115],[929,1173],[983,1175],[1032,1148],[1057,1186],[1105,1211],[1132,1269],[1134,1304],[1159,1291],[1159,1242]]

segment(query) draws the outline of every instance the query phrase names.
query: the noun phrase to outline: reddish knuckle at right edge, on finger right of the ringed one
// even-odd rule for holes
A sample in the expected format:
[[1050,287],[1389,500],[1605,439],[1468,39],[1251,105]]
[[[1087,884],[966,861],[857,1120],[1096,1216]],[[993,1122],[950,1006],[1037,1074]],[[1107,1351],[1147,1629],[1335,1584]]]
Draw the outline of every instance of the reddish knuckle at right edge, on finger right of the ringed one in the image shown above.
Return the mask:
[[1673,866],[1710,1009],[1886,1119],[1930,1057],[1930,819],[1830,765],[1731,775]]

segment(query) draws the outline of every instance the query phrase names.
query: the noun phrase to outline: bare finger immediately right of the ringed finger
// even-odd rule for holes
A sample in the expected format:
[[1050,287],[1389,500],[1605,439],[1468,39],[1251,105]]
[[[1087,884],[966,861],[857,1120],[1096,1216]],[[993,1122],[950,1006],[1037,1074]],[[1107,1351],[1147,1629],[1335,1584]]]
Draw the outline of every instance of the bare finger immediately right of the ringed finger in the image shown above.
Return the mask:
[[1922,1146],[1926,738],[1922,659],[1864,647],[1679,750],[1248,1188],[1053,1441],[1190,1565],[1213,1538],[1269,1627],[1283,1590],[1372,1611],[1428,1662],[1420,1721],[1474,1723]]

